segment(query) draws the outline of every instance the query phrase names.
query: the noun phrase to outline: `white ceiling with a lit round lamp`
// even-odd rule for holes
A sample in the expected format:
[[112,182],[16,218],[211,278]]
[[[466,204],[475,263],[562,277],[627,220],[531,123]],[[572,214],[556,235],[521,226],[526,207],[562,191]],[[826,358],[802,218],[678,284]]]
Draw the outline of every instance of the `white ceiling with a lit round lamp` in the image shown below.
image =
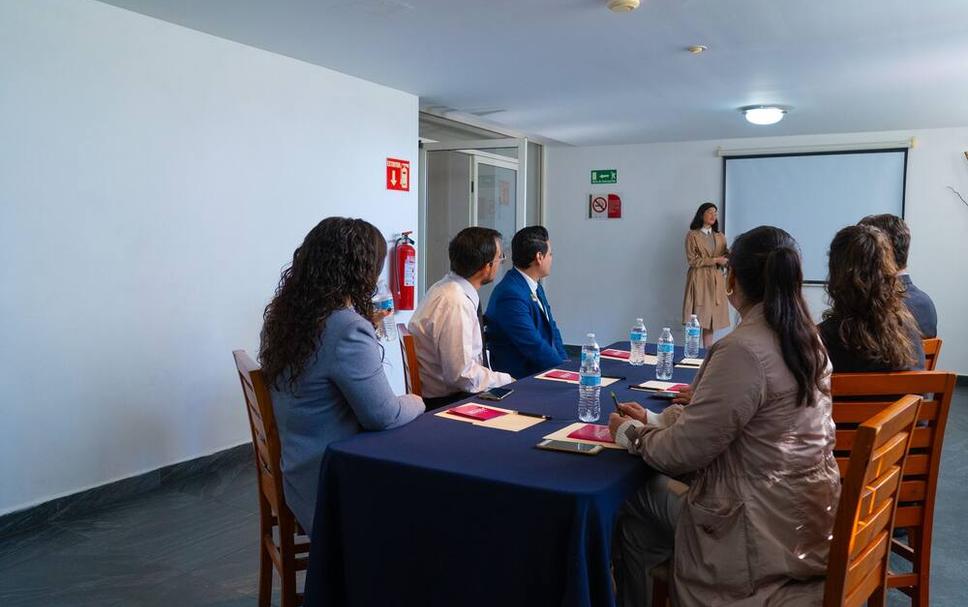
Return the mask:
[[576,145],[968,125],[968,0],[105,1]]

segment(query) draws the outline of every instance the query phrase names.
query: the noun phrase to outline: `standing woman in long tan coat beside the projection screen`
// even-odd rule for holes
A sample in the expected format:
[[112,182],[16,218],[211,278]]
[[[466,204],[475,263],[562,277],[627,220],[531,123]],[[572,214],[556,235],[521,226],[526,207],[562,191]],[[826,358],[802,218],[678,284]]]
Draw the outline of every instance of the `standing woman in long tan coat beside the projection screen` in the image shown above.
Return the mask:
[[682,299],[682,324],[693,314],[702,326],[703,347],[713,343],[713,332],[729,326],[726,306],[726,237],[719,231],[719,210],[711,202],[699,205],[686,233],[686,294]]

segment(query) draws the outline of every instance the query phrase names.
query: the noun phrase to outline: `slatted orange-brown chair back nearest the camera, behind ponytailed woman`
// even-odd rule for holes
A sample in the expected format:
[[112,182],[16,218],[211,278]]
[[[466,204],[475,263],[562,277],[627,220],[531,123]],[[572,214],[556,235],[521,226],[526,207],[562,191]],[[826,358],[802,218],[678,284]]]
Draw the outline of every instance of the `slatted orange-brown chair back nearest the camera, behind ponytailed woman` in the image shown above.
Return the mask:
[[883,605],[892,521],[921,397],[907,395],[861,423],[834,522],[824,607]]

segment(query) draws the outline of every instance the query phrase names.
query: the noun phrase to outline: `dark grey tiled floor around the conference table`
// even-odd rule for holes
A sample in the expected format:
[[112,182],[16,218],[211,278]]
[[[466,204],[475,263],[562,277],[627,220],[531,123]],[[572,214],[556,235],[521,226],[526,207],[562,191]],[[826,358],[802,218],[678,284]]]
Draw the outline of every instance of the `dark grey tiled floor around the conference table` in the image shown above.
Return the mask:
[[[0,540],[0,605],[255,605],[251,462],[168,483],[96,514]],[[968,604],[968,389],[952,404],[932,555],[935,606]],[[890,605],[908,605],[900,595]]]

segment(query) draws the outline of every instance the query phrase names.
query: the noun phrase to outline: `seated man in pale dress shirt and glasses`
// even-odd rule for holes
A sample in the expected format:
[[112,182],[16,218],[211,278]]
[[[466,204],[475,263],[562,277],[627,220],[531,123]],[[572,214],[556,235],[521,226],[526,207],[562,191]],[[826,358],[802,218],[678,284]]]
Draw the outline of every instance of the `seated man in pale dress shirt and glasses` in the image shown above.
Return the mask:
[[501,233],[465,228],[450,241],[450,272],[430,287],[411,318],[427,409],[514,381],[486,360],[478,290],[494,282],[504,261]]

